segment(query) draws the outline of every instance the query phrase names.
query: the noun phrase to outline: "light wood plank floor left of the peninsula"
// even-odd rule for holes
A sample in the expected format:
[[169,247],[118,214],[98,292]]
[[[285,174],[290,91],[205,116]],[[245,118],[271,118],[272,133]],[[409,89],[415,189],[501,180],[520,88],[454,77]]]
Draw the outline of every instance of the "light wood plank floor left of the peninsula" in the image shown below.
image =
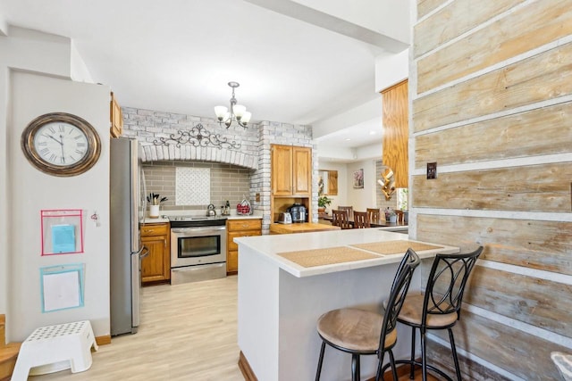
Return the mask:
[[144,287],[137,334],[99,346],[86,372],[29,380],[244,380],[237,365],[237,289],[235,276]]

